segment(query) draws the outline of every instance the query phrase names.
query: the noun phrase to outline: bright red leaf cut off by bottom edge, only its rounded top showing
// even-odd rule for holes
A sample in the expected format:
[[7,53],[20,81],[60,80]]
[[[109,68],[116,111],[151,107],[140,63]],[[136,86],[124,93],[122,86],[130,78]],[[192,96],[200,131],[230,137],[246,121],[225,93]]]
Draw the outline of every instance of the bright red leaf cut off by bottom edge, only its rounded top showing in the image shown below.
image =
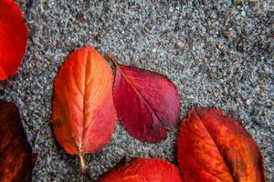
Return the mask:
[[182,182],[179,169],[156,158],[136,158],[125,166],[113,169],[98,182]]

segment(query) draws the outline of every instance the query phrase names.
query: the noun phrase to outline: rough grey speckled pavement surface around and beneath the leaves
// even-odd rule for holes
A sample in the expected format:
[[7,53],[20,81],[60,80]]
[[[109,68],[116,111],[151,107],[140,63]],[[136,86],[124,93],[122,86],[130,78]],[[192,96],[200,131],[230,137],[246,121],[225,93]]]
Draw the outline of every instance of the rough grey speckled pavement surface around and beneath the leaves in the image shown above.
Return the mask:
[[[179,88],[181,118],[195,103],[237,117],[258,142],[267,177],[274,181],[271,1],[16,2],[25,12],[29,40],[16,76],[0,84],[0,98],[19,107],[26,135],[39,154],[33,181],[89,180],[80,174],[79,158],[64,152],[48,124],[58,67],[83,45],[111,52],[122,64],[168,76]],[[123,156],[175,163],[177,129],[163,142],[147,144],[118,124],[109,146],[87,155],[90,176],[99,177]]]

